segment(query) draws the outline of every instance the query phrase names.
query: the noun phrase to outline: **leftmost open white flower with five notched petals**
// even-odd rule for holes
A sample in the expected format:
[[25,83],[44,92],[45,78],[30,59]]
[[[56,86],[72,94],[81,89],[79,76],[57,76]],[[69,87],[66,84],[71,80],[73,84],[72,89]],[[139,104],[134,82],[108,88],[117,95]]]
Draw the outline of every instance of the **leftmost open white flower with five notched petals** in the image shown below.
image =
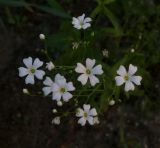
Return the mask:
[[36,58],[33,62],[32,58],[28,57],[28,58],[23,59],[23,63],[25,64],[27,68],[20,67],[18,68],[18,70],[19,70],[20,77],[24,77],[27,75],[25,79],[26,84],[29,84],[29,83],[34,84],[35,83],[34,76],[39,80],[43,79],[45,72],[43,70],[38,70],[38,68],[43,65],[42,61]]

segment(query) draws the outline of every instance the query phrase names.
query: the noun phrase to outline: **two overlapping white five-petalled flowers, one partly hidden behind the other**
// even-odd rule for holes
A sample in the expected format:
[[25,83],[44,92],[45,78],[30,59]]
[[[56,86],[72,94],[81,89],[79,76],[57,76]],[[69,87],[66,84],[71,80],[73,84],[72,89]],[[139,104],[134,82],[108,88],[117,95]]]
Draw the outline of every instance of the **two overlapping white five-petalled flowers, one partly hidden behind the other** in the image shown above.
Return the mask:
[[64,101],[67,102],[73,97],[73,95],[69,93],[69,91],[75,90],[73,83],[67,83],[64,76],[61,76],[60,74],[56,74],[54,82],[51,80],[51,78],[46,77],[43,84],[46,85],[42,89],[44,95],[47,96],[48,94],[52,93],[53,100],[60,101],[62,98]]

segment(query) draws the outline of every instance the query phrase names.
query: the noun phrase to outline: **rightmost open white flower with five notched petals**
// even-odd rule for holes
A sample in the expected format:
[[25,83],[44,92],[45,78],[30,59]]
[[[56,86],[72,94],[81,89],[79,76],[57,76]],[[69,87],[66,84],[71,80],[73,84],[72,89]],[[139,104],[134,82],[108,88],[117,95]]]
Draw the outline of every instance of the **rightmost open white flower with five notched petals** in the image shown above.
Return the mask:
[[117,86],[121,86],[125,83],[125,91],[134,90],[136,85],[141,85],[141,76],[135,76],[134,74],[137,71],[137,67],[133,66],[132,64],[129,65],[128,72],[126,71],[125,67],[121,65],[117,70],[117,74],[119,76],[115,77]]

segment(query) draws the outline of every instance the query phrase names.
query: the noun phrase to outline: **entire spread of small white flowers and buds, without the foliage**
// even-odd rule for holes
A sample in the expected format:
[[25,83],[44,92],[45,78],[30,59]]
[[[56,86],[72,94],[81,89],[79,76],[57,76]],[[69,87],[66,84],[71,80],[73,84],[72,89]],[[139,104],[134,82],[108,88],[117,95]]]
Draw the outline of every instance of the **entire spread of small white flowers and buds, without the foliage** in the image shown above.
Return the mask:
[[[85,30],[91,26],[91,21],[91,18],[85,18],[85,14],[82,14],[77,18],[73,17],[72,24],[73,27],[78,30]],[[41,40],[46,39],[44,34],[40,34],[39,38]],[[72,48],[77,49],[78,47],[79,42],[74,42]],[[103,50],[102,54],[104,57],[108,58],[108,50]],[[73,71],[76,73],[75,76],[78,76],[77,81],[73,82],[68,81],[67,76],[65,77],[64,75],[61,75],[59,72],[57,72],[57,70],[59,70],[58,66],[55,66],[52,61],[46,63],[46,71],[42,70],[44,62],[40,61],[39,58],[32,59],[31,57],[28,57],[23,59],[23,63],[25,67],[19,67],[18,70],[19,76],[25,77],[25,84],[35,84],[35,78],[38,80],[42,80],[43,87],[41,88],[41,90],[43,95],[49,96],[52,100],[56,101],[58,106],[62,106],[63,103],[69,102],[72,99],[74,99],[75,102],[78,102],[77,97],[75,97],[76,95],[74,95],[76,92],[76,84],[78,84],[79,86],[80,82],[82,84],[82,87],[86,85],[86,87],[89,86],[90,88],[93,88],[96,85],[100,85],[98,84],[101,81],[99,76],[105,73],[105,71],[103,71],[102,69],[102,65],[96,65],[96,60],[90,58],[86,58],[85,64],[78,62],[76,66],[74,66]],[[118,76],[115,76],[116,85],[121,86],[125,84],[124,90],[126,92],[130,90],[133,91],[135,89],[135,85],[141,85],[142,77],[135,75],[137,69],[138,68],[136,66],[130,64],[127,71],[123,65],[120,65],[119,69],[117,70]],[[93,89],[93,92],[91,92],[88,97],[90,97],[96,90],[97,88]],[[27,88],[23,89],[23,93],[26,95],[31,94]],[[90,104],[86,104],[88,102],[88,100],[85,100],[83,108],[78,107],[79,104],[74,104],[74,114],[79,118],[78,124],[80,124],[81,126],[86,125],[86,123],[90,125],[99,124],[97,110],[96,108],[91,108]],[[115,103],[115,100],[111,98],[109,99],[108,105],[112,106]],[[59,112],[54,108],[53,113],[58,114]],[[67,111],[67,114],[69,113],[70,112]],[[56,125],[59,125],[60,122],[60,116],[56,116],[52,120],[52,123]]]

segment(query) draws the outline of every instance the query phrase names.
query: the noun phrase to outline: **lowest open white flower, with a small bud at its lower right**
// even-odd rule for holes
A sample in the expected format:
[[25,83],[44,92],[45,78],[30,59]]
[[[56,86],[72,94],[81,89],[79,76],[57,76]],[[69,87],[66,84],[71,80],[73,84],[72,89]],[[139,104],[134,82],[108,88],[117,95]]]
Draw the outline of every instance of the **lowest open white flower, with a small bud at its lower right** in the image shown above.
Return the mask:
[[97,111],[95,108],[92,109],[90,108],[91,108],[90,105],[84,104],[83,109],[81,108],[77,109],[76,116],[80,117],[78,123],[81,124],[82,126],[84,126],[87,121],[90,125],[93,125],[95,123],[94,117],[97,116]]

